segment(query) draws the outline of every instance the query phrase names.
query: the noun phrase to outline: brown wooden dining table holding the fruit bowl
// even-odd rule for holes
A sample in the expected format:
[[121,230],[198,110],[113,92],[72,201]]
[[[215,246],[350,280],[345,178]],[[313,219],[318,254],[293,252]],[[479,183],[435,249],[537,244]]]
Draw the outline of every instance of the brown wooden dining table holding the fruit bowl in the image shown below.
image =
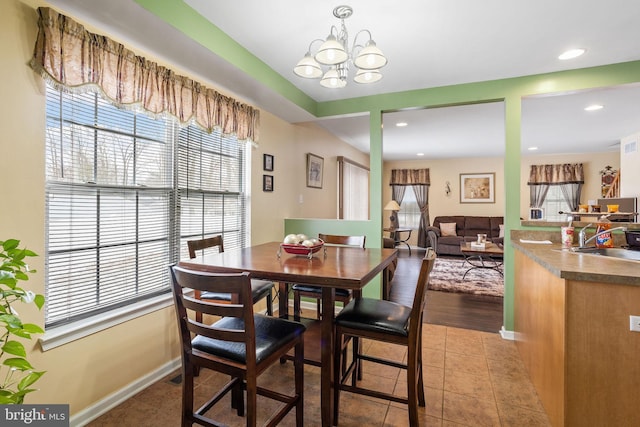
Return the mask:
[[[208,272],[251,273],[251,277],[279,282],[280,317],[289,317],[288,286],[302,283],[322,287],[322,307],[333,307],[335,289],[350,289],[359,294],[364,286],[378,274],[382,274],[383,288],[388,286],[386,269],[398,256],[397,249],[327,246],[312,257],[292,255],[281,250],[279,242],[264,243],[238,250],[226,250],[218,254],[200,255],[194,259],[182,260],[181,267]],[[291,316],[293,317],[293,316]],[[333,320],[334,310],[323,310],[320,326],[321,367],[321,418],[323,426],[333,424]],[[308,338],[305,333],[305,358]],[[317,339],[317,335],[315,337]],[[310,357],[312,355],[309,355]]]

